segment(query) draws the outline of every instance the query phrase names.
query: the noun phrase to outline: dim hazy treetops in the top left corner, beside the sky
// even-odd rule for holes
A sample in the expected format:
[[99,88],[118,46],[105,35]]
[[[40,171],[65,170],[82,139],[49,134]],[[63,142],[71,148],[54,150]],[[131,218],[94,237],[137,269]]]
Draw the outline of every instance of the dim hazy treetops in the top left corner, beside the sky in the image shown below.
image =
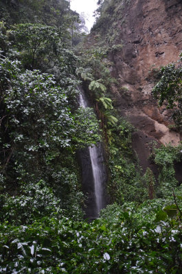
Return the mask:
[[63,40],[66,38],[69,45],[77,45],[87,32],[83,16],[70,10],[67,0],[3,2],[1,3],[0,17],[8,27],[26,23],[58,27],[61,31],[60,38]]

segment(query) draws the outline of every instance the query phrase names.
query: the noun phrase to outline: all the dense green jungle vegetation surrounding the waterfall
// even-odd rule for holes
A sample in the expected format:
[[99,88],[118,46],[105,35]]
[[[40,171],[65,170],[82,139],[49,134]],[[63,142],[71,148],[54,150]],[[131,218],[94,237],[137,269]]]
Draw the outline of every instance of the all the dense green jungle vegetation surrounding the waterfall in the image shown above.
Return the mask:
[[[108,34],[106,47],[99,41],[74,49],[82,24],[67,1],[0,2],[0,272],[181,273],[182,197],[174,166],[182,147],[154,146],[159,178],[150,169],[141,175],[133,126],[117,114],[109,92],[117,79],[107,53],[122,47],[117,37]],[[101,34],[105,18],[129,3],[113,2],[99,1],[94,28]],[[156,94],[171,106],[171,90],[181,99],[181,71],[163,71],[169,97],[162,95],[163,78]],[[81,81],[102,131],[92,109],[78,108]],[[88,223],[76,151],[98,142],[99,132],[111,204]]]

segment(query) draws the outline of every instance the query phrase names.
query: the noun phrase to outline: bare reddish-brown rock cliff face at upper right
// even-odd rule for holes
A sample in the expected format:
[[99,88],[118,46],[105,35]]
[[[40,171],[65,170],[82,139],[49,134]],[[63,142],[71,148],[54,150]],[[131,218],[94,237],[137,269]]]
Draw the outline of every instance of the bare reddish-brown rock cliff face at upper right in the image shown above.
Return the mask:
[[[127,116],[139,132],[133,136],[141,165],[146,169],[150,140],[178,145],[181,136],[170,131],[171,112],[165,105],[158,108],[151,91],[157,79],[153,68],[176,62],[182,49],[182,1],[136,0],[124,9],[126,19],[120,26],[122,51],[111,53],[111,73],[120,82],[120,90],[113,86],[115,105]],[[119,27],[119,25],[118,25]],[[142,134],[144,135],[142,135]],[[137,142],[137,145],[135,144]],[[150,163],[148,163],[150,167]]]

